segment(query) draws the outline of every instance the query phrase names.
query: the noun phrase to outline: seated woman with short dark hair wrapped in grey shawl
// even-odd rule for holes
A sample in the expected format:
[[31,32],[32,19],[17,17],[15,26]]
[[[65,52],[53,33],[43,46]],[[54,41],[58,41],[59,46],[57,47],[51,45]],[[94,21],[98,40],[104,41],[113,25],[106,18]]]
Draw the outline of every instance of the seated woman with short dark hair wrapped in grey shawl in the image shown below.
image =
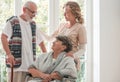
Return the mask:
[[32,80],[28,82],[75,82],[77,77],[74,59],[66,56],[72,44],[66,36],[58,36],[52,45],[52,52],[40,55],[28,69]]

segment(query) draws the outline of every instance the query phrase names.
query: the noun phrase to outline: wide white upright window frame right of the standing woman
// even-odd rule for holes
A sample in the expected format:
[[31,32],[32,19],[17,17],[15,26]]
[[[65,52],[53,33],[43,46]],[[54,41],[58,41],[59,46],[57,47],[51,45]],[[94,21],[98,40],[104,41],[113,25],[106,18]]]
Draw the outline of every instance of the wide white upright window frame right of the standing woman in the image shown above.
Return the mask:
[[86,1],[87,81],[100,82],[100,0]]

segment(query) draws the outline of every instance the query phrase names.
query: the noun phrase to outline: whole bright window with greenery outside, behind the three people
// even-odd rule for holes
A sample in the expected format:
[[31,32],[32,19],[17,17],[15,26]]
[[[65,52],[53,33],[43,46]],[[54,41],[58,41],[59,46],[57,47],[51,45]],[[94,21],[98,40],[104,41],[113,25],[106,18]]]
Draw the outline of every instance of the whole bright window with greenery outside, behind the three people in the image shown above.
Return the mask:
[[[21,9],[22,4],[27,0],[1,0],[1,7],[0,7],[0,24],[1,28],[5,24],[5,20],[12,15],[19,15],[21,12],[19,9]],[[59,22],[64,21],[63,13],[62,13],[62,7],[63,4],[68,0],[32,0],[37,3],[38,6],[38,13],[35,17],[35,21],[37,22],[37,26],[39,28],[46,32],[47,34],[51,34],[54,29],[57,27]],[[85,16],[85,0],[74,0],[77,1],[82,8],[83,15]],[[21,3],[21,5],[20,5]],[[19,4],[19,5],[17,5]],[[16,8],[15,5],[17,6]],[[3,10],[4,9],[4,10]],[[59,11],[58,11],[59,10]],[[9,12],[7,12],[9,11]],[[85,18],[85,17],[84,17]],[[0,32],[1,32],[0,28]],[[48,44],[46,42],[46,44]],[[37,51],[40,52],[40,49],[37,48]],[[0,44],[0,53],[4,54],[2,50],[2,45]],[[85,55],[86,56],[86,55]],[[86,81],[86,58],[85,56],[81,57],[81,82]],[[4,56],[0,57],[0,62],[4,60]],[[6,82],[6,70],[5,70],[5,63],[0,64],[0,80],[1,82]]]

